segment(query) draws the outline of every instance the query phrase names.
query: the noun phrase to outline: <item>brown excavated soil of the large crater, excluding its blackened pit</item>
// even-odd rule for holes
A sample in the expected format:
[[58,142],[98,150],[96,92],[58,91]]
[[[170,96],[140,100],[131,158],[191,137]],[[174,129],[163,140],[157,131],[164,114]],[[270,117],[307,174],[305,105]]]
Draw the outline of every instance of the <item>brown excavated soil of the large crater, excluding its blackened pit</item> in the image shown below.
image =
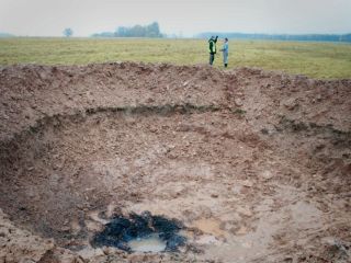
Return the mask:
[[[351,80],[12,66],[0,92],[0,262],[351,261]],[[94,245],[131,215],[185,244]]]

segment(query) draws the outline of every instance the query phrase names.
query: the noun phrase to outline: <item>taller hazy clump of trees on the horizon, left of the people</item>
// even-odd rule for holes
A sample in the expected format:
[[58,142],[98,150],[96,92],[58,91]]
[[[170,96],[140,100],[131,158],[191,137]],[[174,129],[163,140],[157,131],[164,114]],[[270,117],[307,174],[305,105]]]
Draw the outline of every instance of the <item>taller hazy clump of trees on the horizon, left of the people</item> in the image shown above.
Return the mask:
[[118,26],[115,32],[102,32],[92,37],[163,37],[159,24],[154,22],[148,25]]

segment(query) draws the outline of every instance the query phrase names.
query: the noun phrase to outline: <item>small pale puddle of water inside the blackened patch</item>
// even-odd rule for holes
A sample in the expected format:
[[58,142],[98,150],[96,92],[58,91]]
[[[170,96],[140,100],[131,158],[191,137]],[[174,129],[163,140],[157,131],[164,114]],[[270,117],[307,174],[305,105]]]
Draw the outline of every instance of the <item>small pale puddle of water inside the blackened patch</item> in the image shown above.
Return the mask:
[[167,243],[161,240],[158,235],[150,235],[144,238],[137,238],[128,242],[128,247],[133,252],[162,252],[166,250]]

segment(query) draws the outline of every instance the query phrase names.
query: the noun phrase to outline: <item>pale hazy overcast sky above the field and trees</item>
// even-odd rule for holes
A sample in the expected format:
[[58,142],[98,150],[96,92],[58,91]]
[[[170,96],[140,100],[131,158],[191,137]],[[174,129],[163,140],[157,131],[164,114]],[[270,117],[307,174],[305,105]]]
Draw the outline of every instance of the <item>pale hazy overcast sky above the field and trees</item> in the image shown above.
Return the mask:
[[159,22],[161,32],[350,33],[351,0],[0,0],[0,32],[76,36]]

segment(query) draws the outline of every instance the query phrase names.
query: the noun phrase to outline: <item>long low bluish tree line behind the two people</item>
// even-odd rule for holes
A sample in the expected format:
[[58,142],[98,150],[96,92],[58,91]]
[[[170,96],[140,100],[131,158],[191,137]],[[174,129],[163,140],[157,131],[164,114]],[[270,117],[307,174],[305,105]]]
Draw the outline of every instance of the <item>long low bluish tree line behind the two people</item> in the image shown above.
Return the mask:
[[270,39],[270,41],[307,41],[307,42],[351,42],[351,34],[306,34],[306,35],[287,35],[287,34],[246,34],[246,33],[216,33],[206,32],[197,35],[200,38],[210,38],[212,35],[236,39]]

